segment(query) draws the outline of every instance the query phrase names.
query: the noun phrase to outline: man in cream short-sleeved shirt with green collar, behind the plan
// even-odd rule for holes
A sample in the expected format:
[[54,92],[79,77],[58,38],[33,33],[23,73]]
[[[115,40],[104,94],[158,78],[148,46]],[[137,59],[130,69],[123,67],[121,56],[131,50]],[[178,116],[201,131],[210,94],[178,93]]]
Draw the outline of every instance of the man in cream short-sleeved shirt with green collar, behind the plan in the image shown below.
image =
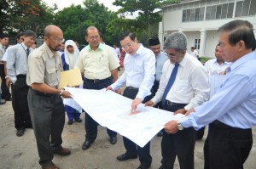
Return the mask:
[[[100,33],[95,26],[90,26],[85,31],[85,40],[89,43],[84,47],[77,61],[76,67],[84,76],[84,88],[100,90],[108,87],[118,79],[119,62],[113,55],[111,48],[100,42]],[[111,78],[113,76],[113,79]],[[116,90],[120,93],[120,89]],[[97,137],[98,123],[85,112],[85,141],[82,149],[89,149]],[[117,132],[107,128],[110,144],[116,144]]]

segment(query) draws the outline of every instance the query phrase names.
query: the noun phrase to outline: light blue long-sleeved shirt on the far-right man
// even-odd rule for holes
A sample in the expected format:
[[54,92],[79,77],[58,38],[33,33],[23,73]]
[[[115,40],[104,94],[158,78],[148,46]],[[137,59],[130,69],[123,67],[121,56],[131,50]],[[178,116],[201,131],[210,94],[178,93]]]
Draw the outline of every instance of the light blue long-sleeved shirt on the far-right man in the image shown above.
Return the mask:
[[230,72],[212,99],[195,108],[180,121],[183,127],[198,129],[218,120],[230,127],[256,125],[256,54],[246,54],[230,65]]

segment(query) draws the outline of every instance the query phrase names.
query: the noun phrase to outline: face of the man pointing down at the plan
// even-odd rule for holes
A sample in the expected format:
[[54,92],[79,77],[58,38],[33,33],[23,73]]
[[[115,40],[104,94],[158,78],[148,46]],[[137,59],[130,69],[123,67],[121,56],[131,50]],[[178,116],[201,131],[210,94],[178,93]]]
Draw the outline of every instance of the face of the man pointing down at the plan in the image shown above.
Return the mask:
[[125,50],[127,54],[135,54],[137,52],[138,43],[137,38],[135,37],[134,41],[131,40],[130,37],[125,37],[122,41],[120,41],[121,47]]

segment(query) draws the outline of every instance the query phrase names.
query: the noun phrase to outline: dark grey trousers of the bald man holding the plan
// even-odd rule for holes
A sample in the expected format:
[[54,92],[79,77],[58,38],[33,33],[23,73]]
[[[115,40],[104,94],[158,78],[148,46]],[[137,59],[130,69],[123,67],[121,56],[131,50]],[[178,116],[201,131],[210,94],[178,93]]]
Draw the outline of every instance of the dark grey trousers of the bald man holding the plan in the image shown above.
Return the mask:
[[47,166],[52,163],[53,150],[61,149],[64,104],[58,94],[39,93],[31,88],[27,100],[38,145],[39,164]]

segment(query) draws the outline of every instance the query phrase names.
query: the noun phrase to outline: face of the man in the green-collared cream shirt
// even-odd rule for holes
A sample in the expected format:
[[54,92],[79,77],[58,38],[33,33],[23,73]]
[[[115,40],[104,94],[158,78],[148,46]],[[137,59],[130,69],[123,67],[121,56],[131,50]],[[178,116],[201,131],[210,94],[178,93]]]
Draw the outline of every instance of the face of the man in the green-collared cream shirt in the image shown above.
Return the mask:
[[87,31],[88,36],[85,40],[90,44],[90,48],[98,48],[100,43],[100,34],[96,29],[91,29]]

